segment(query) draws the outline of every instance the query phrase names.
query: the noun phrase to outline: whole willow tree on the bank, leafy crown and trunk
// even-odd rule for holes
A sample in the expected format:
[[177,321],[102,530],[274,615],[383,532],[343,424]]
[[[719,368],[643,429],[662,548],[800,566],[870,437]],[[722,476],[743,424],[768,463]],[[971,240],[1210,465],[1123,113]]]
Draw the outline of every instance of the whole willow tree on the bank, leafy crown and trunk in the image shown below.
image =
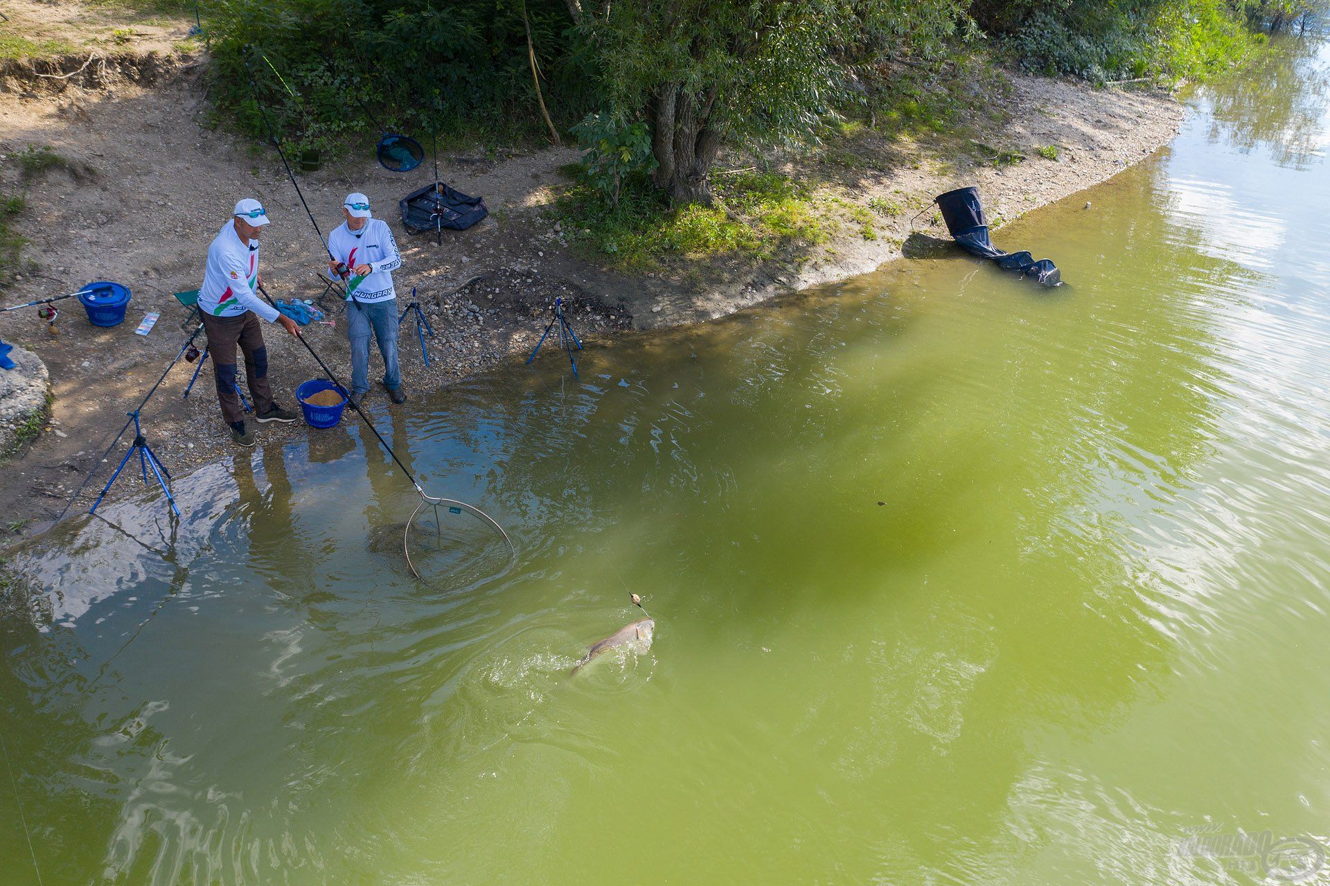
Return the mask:
[[650,128],[652,178],[713,202],[725,145],[807,138],[857,65],[951,33],[963,0],[568,0],[608,110]]

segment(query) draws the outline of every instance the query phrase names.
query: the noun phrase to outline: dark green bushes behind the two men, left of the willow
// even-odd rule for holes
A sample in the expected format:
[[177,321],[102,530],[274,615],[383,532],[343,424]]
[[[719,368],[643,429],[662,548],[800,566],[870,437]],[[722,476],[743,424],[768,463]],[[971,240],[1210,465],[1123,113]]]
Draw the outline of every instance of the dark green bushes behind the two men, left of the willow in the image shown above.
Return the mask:
[[[556,124],[596,101],[563,0],[527,15]],[[267,136],[249,88],[293,148],[325,154],[378,136],[375,122],[446,144],[543,140],[520,0],[222,0],[203,4],[211,90],[253,136]],[[368,113],[366,113],[368,109]]]

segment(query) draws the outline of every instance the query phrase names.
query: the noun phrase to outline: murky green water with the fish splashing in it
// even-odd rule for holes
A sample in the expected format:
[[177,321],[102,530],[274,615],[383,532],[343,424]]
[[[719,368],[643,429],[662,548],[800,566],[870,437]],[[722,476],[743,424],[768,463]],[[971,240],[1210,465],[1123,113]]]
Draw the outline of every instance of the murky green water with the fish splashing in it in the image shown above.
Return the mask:
[[[998,231],[1060,290],[899,262],[376,407],[512,561],[447,516],[414,580],[355,426],[76,523],[0,882],[1279,882],[1184,841],[1330,834],[1327,77]],[[625,587],[653,648],[568,678]]]

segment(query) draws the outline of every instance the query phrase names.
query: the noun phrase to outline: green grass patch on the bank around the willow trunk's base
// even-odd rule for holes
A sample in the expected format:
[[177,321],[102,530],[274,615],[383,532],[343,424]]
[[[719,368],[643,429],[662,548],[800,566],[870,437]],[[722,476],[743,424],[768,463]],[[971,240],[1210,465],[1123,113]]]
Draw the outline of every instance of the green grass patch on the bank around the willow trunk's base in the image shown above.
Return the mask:
[[785,176],[720,176],[713,192],[716,206],[673,208],[649,182],[633,181],[610,209],[577,184],[560,194],[553,214],[576,247],[625,273],[657,270],[670,258],[762,259],[783,243],[811,246],[830,234],[807,185]]

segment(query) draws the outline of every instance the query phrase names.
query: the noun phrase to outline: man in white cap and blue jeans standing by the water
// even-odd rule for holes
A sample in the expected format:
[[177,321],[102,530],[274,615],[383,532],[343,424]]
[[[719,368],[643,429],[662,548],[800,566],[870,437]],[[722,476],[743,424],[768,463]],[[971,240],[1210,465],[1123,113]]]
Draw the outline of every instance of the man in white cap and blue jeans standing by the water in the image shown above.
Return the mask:
[[383,355],[383,387],[394,403],[404,403],[398,367],[398,294],[392,271],[402,267],[398,241],[388,223],[370,214],[370,198],[347,194],[346,222],[329,234],[329,274],[346,285],[346,334],[351,339],[351,402],[370,391],[370,334]]

